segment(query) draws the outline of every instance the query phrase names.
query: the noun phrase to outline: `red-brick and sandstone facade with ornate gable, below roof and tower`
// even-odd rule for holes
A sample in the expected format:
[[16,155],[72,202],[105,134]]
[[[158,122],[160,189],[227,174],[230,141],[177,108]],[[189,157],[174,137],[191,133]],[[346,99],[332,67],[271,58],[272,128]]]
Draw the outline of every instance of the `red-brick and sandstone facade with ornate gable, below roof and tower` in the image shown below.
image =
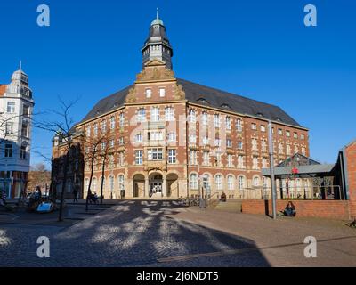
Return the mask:
[[[272,124],[275,163],[295,152],[309,156],[307,129]],[[137,76],[124,106],[78,124],[77,131],[84,134],[84,141],[102,127],[111,136],[105,198],[117,198],[120,189],[125,189],[125,198],[148,198],[158,181],[164,197],[198,195],[204,185],[212,195],[225,191],[228,198],[239,199],[254,177],[263,183],[260,169],[269,167],[267,126],[265,118],[189,102],[173,71],[155,60]],[[152,159],[156,155],[159,158]],[[89,176],[86,163],[85,191]],[[98,163],[92,191],[98,193],[100,185]]]

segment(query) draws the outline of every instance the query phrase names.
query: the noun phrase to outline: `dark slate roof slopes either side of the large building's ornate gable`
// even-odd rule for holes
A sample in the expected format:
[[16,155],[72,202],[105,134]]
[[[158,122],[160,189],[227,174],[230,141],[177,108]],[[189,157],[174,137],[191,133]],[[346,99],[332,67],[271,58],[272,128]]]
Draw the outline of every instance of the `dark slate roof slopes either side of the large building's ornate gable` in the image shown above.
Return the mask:
[[[178,84],[182,85],[186,99],[189,102],[198,103],[222,110],[230,110],[240,114],[247,114],[250,116],[280,121],[281,123],[292,126],[301,126],[295,121],[294,118],[291,118],[284,110],[280,109],[278,106],[264,102],[258,102],[247,97],[231,94],[219,89],[207,87],[205,85],[199,85],[187,80],[177,80]],[[125,97],[131,87],[133,87],[133,85],[130,85],[115,94],[111,94],[108,97],[101,99],[101,101],[93,107],[93,109],[85,116],[85,118],[83,118],[82,122],[97,116],[101,116],[110,110],[115,110],[117,107],[122,106],[125,103]]]

